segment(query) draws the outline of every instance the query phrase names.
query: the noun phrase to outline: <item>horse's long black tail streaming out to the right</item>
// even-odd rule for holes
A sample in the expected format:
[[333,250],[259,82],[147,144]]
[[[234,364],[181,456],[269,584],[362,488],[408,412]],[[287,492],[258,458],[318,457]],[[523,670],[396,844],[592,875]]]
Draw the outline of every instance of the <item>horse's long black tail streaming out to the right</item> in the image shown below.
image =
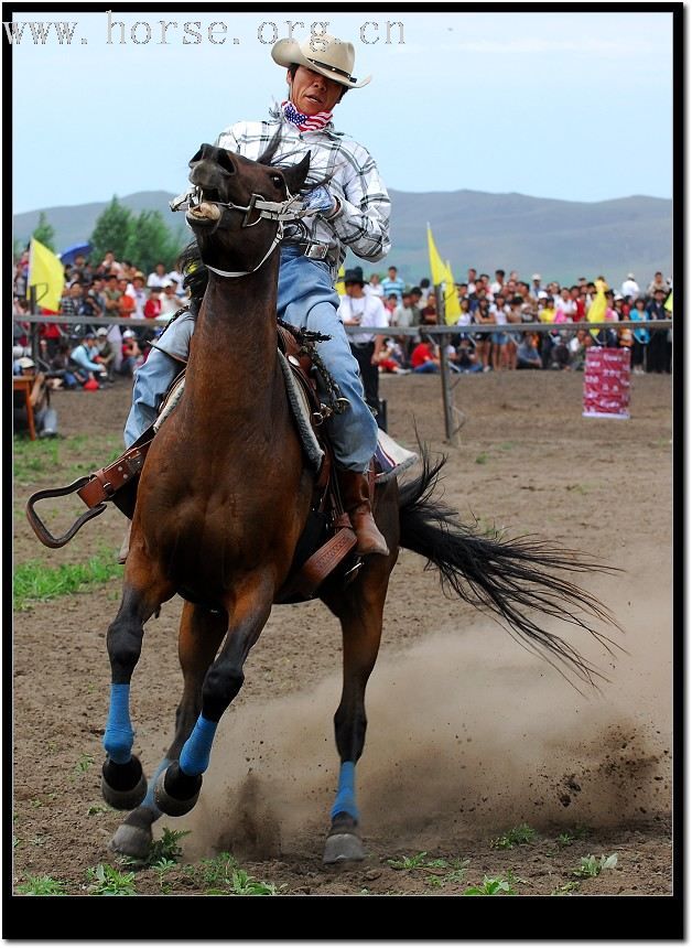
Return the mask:
[[566,665],[592,686],[595,678],[605,680],[572,645],[541,628],[529,612],[580,626],[613,654],[613,647],[620,646],[591,625],[597,620],[619,628],[612,614],[594,595],[556,571],[615,573],[618,570],[588,562],[574,550],[553,549],[540,539],[504,540],[497,532],[491,536],[476,532],[475,525],[464,525],[456,510],[433,497],[446,457],[433,464],[428,451],[420,448],[422,473],[401,485],[399,492],[401,546],[425,557],[425,569],[440,570],[445,594],[456,593],[477,608],[489,608],[525,647],[539,653],[551,665],[555,666],[552,659]]

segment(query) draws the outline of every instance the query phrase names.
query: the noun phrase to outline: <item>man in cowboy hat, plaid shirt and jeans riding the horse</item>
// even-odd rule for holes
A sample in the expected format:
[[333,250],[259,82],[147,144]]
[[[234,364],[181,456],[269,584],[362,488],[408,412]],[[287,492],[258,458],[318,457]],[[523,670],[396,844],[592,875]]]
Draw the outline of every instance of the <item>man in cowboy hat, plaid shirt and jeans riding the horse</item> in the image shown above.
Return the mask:
[[[289,224],[281,244],[278,316],[331,337],[317,344],[317,352],[348,400],[347,409],[327,422],[344,508],[358,538],[357,551],[387,556],[387,542],[372,518],[367,478],[377,446],[377,422],[365,402],[334,289],[347,249],[370,261],[380,260],[390,249],[390,200],[377,165],[363,146],[337,132],[332,121],[345,93],[361,88],[371,77],[355,78],[353,44],[327,34],[302,43],[279,40],[271,56],[286,69],[288,98],[271,111],[269,121],[237,122],[220,133],[216,144],[257,160],[280,133],[273,164],[295,164],[311,155],[309,190],[302,200],[302,211],[310,216],[300,225]],[[128,448],[154,421],[181,358],[186,358],[192,332],[194,319],[175,320],[137,371],[125,431]]]

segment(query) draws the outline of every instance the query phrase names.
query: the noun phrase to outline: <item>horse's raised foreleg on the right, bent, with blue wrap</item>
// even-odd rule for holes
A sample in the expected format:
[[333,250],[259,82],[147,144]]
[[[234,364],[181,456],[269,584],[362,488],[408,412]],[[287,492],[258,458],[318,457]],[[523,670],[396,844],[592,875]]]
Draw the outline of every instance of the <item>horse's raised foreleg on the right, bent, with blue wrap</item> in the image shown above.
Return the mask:
[[[154,786],[154,801],[169,816],[183,816],[197,802],[218,722],[242,687],[242,666],[269,618],[272,595],[273,585],[256,584],[229,603],[226,640],[204,677],[202,711],[179,760],[161,772]],[[182,733],[176,737],[182,737]]]

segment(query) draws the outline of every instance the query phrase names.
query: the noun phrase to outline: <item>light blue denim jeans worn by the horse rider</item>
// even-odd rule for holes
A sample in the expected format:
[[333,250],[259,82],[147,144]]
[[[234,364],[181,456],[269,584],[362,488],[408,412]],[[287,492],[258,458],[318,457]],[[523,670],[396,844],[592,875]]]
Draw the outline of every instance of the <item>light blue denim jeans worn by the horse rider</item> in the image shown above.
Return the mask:
[[[349,406],[328,420],[327,430],[339,465],[364,473],[377,446],[377,422],[364,400],[358,363],[336,314],[338,304],[329,265],[302,256],[296,247],[282,247],[277,314],[291,325],[331,336],[328,342],[317,343],[317,353]],[[185,330],[185,324],[176,320],[161,340],[173,349],[176,346],[169,334],[179,332],[179,323],[181,333],[190,332],[190,327]],[[147,362],[134,374],[132,408],[125,428],[126,446],[155,421],[161,400],[180,370],[180,362],[152,347]],[[326,401],[320,376],[317,381],[321,399]]]

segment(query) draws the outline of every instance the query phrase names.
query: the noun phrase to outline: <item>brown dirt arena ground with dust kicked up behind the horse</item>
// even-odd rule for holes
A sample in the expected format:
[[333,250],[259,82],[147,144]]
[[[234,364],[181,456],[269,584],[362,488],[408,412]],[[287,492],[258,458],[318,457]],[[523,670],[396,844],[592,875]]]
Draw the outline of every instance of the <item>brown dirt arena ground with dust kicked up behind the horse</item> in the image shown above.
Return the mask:
[[[579,693],[487,614],[445,597],[437,573],[403,551],[358,766],[367,859],[324,866],[339,629],[320,602],[275,607],[219,728],[199,802],[156,825],[156,838],[188,831],[183,857],[165,873],[138,870],[138,894],[208,891],[204,860],[223,851],[286,895],[453,896],[500,875],[519,895],[672,892],[671,379],[634,377],[631,419],[618,421],[582,418],[579,374],[464,376],[457,446],[444,443],[440,391],[436,377],[390,376],[380,394],[390,434],[414,446],[415,423],[433,454],[447,454],[444,497],[464,519],[537,534],[621,570],[583,583],[616,615],[624,650],[610,656],[545,620],[608,680]],[[24,464],[14,480],[15,568],[115,557],[125,526],[115,508],[55,551],[34,538],[23,508],[33,491],[115,457],[128,403],[123,381],[56,394],[63,440],[50,463]],[[83,509],[73,498],[42,508],[55,530]],[[116,578],[14,614],[14,892],[48,875],[88,894],[89,869],[129,871],[108,848],[122,815],[100,797],[105,636],[119,596]],[[173,733],[180,611],[175,599],[150,621],[133,678],[136,751],[149,775]],[[530,841],[498,845],[522,823]],[[583,858],[613,854],[615,868],[574,874]]]

